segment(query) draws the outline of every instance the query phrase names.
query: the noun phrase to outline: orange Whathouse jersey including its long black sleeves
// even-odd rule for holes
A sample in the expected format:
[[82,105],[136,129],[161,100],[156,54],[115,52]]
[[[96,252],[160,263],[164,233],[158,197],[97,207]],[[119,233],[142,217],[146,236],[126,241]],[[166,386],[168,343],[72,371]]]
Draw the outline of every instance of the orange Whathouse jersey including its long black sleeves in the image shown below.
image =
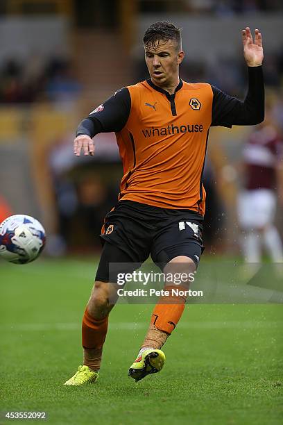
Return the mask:
[[180,80],[169,94],[146,80],[118,90],[76,135],[115,131],[123,160],[119,200],[205,213],[202,176],[209,126],[253,125],[264,119],[261,67],[249,67],[245,101],[207,83]]

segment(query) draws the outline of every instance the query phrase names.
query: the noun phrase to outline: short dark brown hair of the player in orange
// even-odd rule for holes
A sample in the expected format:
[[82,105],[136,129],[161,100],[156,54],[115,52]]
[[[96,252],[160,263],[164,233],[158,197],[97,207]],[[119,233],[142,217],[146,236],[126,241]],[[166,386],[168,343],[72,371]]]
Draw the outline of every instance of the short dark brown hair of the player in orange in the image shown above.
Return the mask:
[[160,40],[173,40],[177,43],[178,49],[181,49],[181,28],[178,28],[169,21],[155,22],[154,24],[151,24],[144,34],[144,46],[154,45]]

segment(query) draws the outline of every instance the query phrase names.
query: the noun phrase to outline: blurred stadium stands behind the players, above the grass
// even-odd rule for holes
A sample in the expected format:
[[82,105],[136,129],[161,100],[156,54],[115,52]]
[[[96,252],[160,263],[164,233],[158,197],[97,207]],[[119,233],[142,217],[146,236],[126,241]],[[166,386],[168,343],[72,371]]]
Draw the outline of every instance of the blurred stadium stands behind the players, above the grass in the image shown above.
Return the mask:
[[[283,6],[279,0],[1,0],[0,205],[48,233],[46,253],[99,251],[122,174],[113,134],[75,158],[80,119],[123,85],[147,78],[142,36],[156,20],[182,27],[181,77],[243,98],[241,28],[261,29],[267,101],[282,131]],[[206,254],[238,253],[241,147],[251,128],[213,128],[205,169]],[[282,208],[282,207],[281,207]],[[277,224],[282,209],[278,210]]]

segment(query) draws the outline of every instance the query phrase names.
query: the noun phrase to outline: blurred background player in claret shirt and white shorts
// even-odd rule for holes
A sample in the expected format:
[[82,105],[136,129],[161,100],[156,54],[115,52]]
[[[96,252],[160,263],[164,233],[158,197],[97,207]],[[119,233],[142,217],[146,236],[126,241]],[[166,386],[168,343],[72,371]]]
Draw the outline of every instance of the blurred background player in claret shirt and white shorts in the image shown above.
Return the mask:
[[243,258],[256,272],[264,245],[273,263],[283,263],[280,234],[274,224],[277,198],[283,207],[283,140],[266,113],[243,149],[244,190],[239,194]]

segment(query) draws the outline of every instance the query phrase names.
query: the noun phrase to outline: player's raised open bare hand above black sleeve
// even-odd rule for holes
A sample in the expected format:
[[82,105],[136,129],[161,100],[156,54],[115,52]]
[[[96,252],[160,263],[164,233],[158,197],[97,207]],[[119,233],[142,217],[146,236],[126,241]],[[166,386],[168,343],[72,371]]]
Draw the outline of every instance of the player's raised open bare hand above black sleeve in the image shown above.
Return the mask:
[[250,28],[246,26],[242,30],[243,56],[248,67],[258,67],[264,60],[264,49],[262,48],[261,33],[255,30],[255,42],[252,40]]

